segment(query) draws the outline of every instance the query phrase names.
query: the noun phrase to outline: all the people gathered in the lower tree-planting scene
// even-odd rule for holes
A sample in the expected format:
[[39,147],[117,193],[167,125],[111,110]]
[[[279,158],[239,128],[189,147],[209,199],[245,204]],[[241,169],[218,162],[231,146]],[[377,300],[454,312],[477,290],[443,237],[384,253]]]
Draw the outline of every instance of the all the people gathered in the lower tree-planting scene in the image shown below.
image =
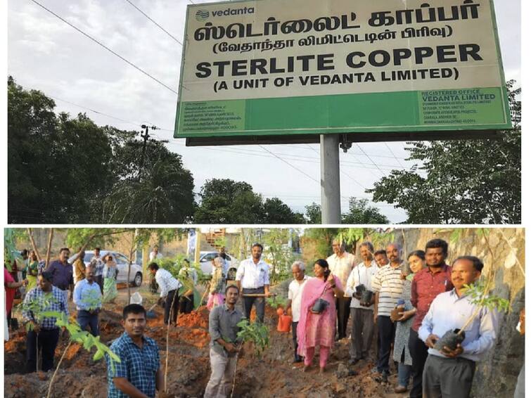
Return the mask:
[[[312,277],[306,275],[304,262],[297,261],[292,266],[293,281],[288,287],[284,311],[293,317],[294,361],[304,362],[302,370],[313,365],[319,347],[319,370],[324,372],[334,342],[347,338],[347,333],[350,333],[349,364],[354,366],[369,359],[376,335],[378,348],[373,371],[386,381],[392,357],[398,368],[396,392],[406,392],[411,383],[410,397],[468,397],[475,364],[494,345],[499,319],[496,310],[482,307],[476,311],[477,305],[466,294],[466,285],[481,276],[480,259],[461,256],[450,266],[446,262],[448,244],[441,239],[428,241],[425,250],[415,250],[404,259],[402,248],[396,243],[375,251],[370,242],[364,242],[359,248],[363,260],[359,264],[355,264],[354,255],[340,241],[334,240],[332,249],[333,255],[314,262]],[[260,243],[252,245],[251,257],[239,264],[235,284],[226,283],[222,257],[212,260],[207,300],[212,373],[205,397],[224,397],[229,393],[236,354],[241,347],[238,322],[244,317],[250,319],[253,305],[257,321],[264,321],[265,298],[271,292],[269,265],[262,259],[262,251]],[[90,328],[93,335],[99,334],[98,311],[105,297],[105,281],[111,277],[112,259],[98,262],[93,258],[85,269],[79,267],[78,271],[77,264],[72,267],[68,263],[69,255],[68,249],[60,250],[58,260],[37,271],[37,285],[26,294],[23,318],[31,323],[27,335],[28,371],[35,370],[39,349],[43,370],[53,366],[59,336],[56,319],[40,316],[30,304],[37,302],[41,312],[62,312],[68,316],[70,290],[79,325]],[[177,324],[182,283],[155,262],[148,269],[160,288],[165,323]],[[6,281],[13,288],[17,285],[7,278]],[[188,294],[189,291],[183,293]],[[239,299],[243,311],[236,306]],[[471,321],[464,325],[471,314]],[[347,330],[349,317],[351,330]],[[123,311],[123,324],[124,334],[110,347],[122,362],[108,364],[109,396],[154,397],[155,390],[163,389],[164,380],[158,347],[143,335],[146,310],[139,304],[129,304]],[[460,344],[435,348],[444,333],[463,326],[466,330]],[[106,359],[110,362],[109,357]]]

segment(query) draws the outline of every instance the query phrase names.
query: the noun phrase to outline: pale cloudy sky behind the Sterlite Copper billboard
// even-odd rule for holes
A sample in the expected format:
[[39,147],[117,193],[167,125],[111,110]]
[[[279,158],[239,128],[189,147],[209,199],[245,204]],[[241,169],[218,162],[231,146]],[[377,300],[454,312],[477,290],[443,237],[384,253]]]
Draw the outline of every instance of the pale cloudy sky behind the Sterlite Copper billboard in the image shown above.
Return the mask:
[[[39,0],[105,46],[177,91],[186,6],[192,1]],[[194,4],[212,1],[194,0]],[[140,8],[169,34],[140,13]],[[506,79],[520,86],[520,0],[494,0]],[[100,125],[160,129],[155,137],[182,155],[198,193],[207,179],[247,181],[264,198],[278,197],[293,210],[320,203],[319,145],[186,147],[173,138],[177,95],[106,51],[30,0],[8,1],[8,75],[26,89],[56,100],[56,111],[87,113]],[[177,41],[176,41],[177,39]],[[342,211],[348,198],[367,198],[366,188],[392,169],[409,169],[405,143],[354,144],[340,153]],[[276,156],[275,156],[276,155]],[[369,155],[370,159],[367,157]],[[289,162],[293,167],[287,165]],[[302,170],[302,173],[300,170]],[[310,179],[309,174],[313,178]],[[378,207],[393,224],[407,215],[388,203]]]

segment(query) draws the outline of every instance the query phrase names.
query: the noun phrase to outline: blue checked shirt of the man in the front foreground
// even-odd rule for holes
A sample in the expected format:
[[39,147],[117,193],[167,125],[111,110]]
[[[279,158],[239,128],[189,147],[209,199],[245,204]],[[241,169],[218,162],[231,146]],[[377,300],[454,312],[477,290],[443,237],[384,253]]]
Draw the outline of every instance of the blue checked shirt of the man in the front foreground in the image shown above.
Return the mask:
[[146,336],[142,337],[143,345],[140,348],[124,332],[117,338],[110,350],[120,357],[120,363],[110,364],[110,357],[105,354],[107,362],[108,398],[127,398],[129,395],[118,390],[113,383],[113,378],[126,378],[129,383],[138,388],[150,398],[155,398],[155,377],[160,368],[160,355],[155,340]]

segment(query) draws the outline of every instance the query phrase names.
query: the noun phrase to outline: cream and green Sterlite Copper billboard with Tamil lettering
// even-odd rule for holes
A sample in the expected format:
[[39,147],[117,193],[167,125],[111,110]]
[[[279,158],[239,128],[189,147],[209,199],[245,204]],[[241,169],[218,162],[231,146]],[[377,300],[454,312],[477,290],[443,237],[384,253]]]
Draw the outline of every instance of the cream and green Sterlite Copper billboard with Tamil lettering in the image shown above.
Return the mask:
[[188,6],[176,138],[510,127],[491,0]]

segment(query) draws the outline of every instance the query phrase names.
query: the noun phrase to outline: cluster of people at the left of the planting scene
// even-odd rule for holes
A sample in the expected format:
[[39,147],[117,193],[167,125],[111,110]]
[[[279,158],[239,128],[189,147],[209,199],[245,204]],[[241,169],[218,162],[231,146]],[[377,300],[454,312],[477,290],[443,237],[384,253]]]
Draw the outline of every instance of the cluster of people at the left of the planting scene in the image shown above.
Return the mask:
[[[13,274],[4,267],[6,287],[6,314],[11,318],[13,299],[20,287],[25,286],[23,300],[23,323],[28,328],[26,370],[37,371],[39,352],[42,370],[53,368],[53,356],[58,344],[60,330],[56,326],[57,316],[50,313],[69,316],[69,300],[77,309],[77,323],[82,330],[89,330],[94,336],[99,335],[98,314],[103,302],[113,302],[117,296],[117,264],[112,254],[100,254],[95,248],[91,262],[84,264],[85,252],[81,250],[73,264],[68,262],[70,250],[61,248],[58,259],[46,264],[37,258],[33,250],[23,250],[25,260],[22,264],[11,264],[15,276],[22,278],[15,281]],[[20,260],[19,260],[20,262]],[[20,277],[21,274],[21,277]],[[70,295],[69,295],[70,292]]]

